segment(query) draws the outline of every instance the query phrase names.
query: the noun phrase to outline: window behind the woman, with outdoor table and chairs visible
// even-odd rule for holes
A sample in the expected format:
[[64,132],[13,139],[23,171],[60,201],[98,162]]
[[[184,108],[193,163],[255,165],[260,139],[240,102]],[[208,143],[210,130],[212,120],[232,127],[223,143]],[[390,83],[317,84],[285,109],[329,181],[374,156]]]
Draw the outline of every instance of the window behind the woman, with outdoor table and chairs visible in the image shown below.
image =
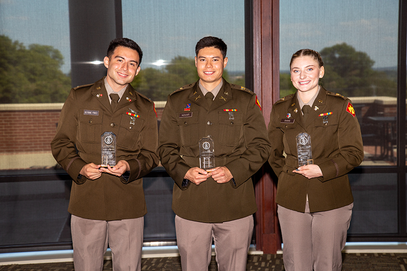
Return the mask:
[[325,66],[320,84],[350,98],[360,123],[365,157],[349,175],[353,240],[405,234],[405,192],[399,191],[405,174],[397,174],[404,167],[397,165],[397,150],[405,151],[397,142],[397,119],[405,118],[397,110],[398,17],[396,0],[280,1],[281,97],[296,91],[289,76],[291,55],[314,49]]

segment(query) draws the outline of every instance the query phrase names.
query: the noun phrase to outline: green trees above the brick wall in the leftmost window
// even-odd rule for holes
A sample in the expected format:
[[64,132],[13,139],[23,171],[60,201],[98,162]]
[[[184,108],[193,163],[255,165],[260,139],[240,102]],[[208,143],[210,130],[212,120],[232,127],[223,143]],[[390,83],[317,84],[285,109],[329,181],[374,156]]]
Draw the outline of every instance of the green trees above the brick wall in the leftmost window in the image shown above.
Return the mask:
[[0,36],[0,103],[65,102],[71,78],[61,71],[64,57],[52,46]]

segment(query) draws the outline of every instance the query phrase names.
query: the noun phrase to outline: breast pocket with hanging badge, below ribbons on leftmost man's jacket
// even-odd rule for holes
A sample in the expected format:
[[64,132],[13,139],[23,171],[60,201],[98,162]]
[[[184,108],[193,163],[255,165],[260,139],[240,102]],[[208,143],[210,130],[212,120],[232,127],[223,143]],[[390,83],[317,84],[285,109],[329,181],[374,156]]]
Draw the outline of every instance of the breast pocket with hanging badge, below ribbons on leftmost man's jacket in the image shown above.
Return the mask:
[[122,114],[117,145],[127,149],[136,149],[141,140],[140,132],[144,127],[144,119]]

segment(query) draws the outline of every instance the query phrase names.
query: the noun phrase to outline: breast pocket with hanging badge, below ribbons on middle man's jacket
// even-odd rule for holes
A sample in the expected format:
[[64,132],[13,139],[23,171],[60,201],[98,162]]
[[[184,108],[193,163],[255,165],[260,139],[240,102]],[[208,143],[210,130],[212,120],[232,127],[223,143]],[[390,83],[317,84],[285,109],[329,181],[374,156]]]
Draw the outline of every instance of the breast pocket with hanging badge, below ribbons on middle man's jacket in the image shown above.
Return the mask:
[[219,144],[237,146],[243,135],[243,113],[219,112]]

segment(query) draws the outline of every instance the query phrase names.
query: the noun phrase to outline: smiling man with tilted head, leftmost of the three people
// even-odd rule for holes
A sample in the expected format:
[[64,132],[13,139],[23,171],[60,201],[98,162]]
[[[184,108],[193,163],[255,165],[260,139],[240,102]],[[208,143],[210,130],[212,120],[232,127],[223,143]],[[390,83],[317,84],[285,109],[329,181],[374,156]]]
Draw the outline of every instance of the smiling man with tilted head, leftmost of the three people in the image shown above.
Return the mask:
[[[73,179],[68,211],[75,270],[102,270],[107,245],[114,269],[141,270],[147,213],[141,177],[159,162],[154,104],[130,85],[141,58],[134,41],[111,41],[103,59],[107,75],[71,89],[51,142],[55,160]],[[103,160],[102,148],[115,149],[115,159]]]

